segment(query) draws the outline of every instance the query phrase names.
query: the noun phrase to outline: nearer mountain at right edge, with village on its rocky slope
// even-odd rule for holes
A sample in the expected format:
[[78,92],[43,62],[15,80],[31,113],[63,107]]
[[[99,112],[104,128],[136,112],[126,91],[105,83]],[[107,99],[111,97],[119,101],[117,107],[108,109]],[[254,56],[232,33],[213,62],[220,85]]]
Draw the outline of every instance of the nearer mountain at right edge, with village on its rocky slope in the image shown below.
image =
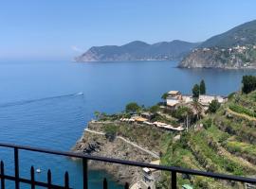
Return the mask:
[[185,68],[256,68],[256,20],[211,37],[179,64]]

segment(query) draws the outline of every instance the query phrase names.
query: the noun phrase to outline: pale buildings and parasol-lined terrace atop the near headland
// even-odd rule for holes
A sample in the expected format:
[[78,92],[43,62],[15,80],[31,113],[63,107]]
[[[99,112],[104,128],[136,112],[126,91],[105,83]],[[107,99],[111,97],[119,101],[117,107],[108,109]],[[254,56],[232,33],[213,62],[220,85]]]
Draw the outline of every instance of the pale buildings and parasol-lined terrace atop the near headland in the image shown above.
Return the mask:
[[[145,124],[148,126],[155,126],[159,129],[167,129],[173,131],[183,131],[184,127],[188,126],[187,123],[180,122],[178,125],[178,121],[176,124],[172,125],[170,123],[162,122],[160,120],[154,119],[155,114],[162,115],[168,118],[171,118],[174,112],[177,112],[182,108],[189,108],[191,111],[191,117],[194,116],[204,116],[209,111],[209,106],[212,101],[216,101],[219,105],[225,103],[228,100],[228,97],[222,95],[210,95],[210,94],[199,94],[197,98],[193,97],[193,95],[181,94],[179,91],[169,91],[167,94],[164,94],[164,102],[158,106],[158,109],[155,107],[155,111],[149,110],[144,112],[136,112],[131,113],[129,118],[121,117],[119,121],[134,123],[137,122],[139,124]],[[134,104],[136,106],[136,104]],[[199,110],[200,109],[200,110]],[[188,117],[189,117],[188,112]],[[174,117],[173,117],[174,119]]]

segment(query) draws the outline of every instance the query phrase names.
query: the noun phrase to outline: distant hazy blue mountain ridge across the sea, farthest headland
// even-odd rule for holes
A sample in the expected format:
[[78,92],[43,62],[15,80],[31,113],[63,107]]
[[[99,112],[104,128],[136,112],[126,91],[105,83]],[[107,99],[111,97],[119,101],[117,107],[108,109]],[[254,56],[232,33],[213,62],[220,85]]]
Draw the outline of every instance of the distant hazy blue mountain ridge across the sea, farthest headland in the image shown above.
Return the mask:
[[127,61],[127,60],[180,60],[200,43],[173,42],[144,43],[135,41],[121,46],[93,46],[76,61]]

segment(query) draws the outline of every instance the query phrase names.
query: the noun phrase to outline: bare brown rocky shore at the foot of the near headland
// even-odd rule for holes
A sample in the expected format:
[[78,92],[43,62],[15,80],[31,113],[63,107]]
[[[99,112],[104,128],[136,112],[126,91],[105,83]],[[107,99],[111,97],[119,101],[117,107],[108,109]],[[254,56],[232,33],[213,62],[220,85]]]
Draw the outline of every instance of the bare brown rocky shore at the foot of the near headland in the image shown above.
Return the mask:
[[[104,123],[90,122],[87,129],[97,130],[101,127],[104,127]],[[117,137],[114,141],[110,141],[102,134],[87,132],[86,130],[84,130],[82,138],[76,143],[72,150],[88,155],[143,163],[150,163],[154,160],[152,155]],[[138,180],[141,175],[141,168],[133,166],[89,161],[89,167],[91,169],[107,171],[119,183],[131,183]]]

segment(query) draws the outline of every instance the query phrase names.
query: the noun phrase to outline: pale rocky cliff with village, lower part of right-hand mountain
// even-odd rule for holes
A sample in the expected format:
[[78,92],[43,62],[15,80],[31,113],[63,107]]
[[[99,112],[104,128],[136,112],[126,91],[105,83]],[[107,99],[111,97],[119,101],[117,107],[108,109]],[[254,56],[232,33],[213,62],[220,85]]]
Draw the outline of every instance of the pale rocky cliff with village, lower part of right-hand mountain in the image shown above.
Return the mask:
[[195,49],[179,63],[181,68],[255,69],[256,48],[252,45],[231,48]]

